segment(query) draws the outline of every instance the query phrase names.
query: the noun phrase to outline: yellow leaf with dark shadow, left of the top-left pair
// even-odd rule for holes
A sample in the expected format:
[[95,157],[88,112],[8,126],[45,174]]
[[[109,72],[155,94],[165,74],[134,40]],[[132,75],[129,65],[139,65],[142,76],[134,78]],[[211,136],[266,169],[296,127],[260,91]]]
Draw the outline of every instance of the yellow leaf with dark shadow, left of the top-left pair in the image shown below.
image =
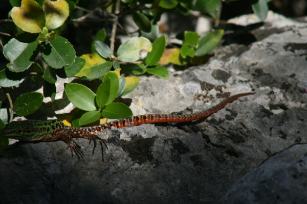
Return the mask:
[[21,7],[14,7],[11,13],[14,23],[28,33],[39,33],[45,26],[46,17],[34,0],[21,1]]

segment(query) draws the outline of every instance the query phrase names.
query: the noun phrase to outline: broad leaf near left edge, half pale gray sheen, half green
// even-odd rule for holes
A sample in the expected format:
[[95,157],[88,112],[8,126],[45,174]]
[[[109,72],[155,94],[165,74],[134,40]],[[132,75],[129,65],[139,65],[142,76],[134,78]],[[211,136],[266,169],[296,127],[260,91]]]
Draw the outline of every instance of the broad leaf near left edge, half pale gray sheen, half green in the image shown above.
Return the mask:
[[13,72],[20,72],[28,69],[36,59],[37,42],[24,43],[12,38],[5,46],[3,55],[10,63],[8,68]]

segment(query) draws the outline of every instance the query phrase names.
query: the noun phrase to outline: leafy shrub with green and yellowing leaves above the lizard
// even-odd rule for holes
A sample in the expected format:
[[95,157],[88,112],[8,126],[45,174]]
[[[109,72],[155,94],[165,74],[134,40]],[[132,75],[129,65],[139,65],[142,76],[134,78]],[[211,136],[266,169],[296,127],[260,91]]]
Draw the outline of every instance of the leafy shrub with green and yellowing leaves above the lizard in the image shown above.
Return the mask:
[[[261,20],[267,16],[268,2],[258,0],[252,3],[255,14]],[[153,74],[167,79],[168,71],[163,65],[182,66],[196,62],[195,59],[211,52],[224,33],[224,30],[216,29],[199,36],[196,32],[185,31],[180,38],[182,44],[171,45],[165,35],[159,34],[157,25],[161,15],[170,12],[189,15],[190,11],[199,11],[201,15],[218,19],[218,12],[222,10],[220,0],[102,0],[100,9],[111,18],[112,32],[108,33],[104,28],[99,30],[89,44],[92,52],[76,56],[74,45],[61,36],[61,32],[67,29],[68,24],[78,26],[95,10],[81,9],[78,0],[15,0],[10,3],[13,23],[8,22],[10,38],[3,49],[8,64],[7,68],[0,68],[0,87],[6,87],[10,93],[13,87],[27,86],[24,83],[28,78],[43,87],[43,94],[30,91],[18,96],[11,103],[11,109],[19,116],[27,116],[40,107],[44,97],[55,100],[58,77],[75,77],[80,79],[79,82],[99,80],[96,94],[92,91],[93,87],[65,84],[68,99],[81,110],[73,118],[76,126],[95,122],[101,117],[131,116],[132,112],[126,105],[114,101],[138,86],[136,75]],[[89,15],[82,16],[83,11],[89,12]],[[126,15],[132,15],[139,35],[130,37],[116,49],[118,18]],[[109,35],[110,41],[107,40]],[[143,58],[140,55],[142,50],[147,52]],[[1,112],[0,127],[3,127],[13,113],[4,108]]]

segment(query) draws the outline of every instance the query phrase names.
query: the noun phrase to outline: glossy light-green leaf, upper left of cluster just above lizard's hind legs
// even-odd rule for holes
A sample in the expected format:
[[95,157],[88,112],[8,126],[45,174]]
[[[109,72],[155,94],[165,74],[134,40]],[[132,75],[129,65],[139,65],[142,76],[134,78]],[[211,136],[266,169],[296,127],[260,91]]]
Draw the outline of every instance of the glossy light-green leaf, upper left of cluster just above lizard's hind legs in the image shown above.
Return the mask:
[[84,111],[94,111],[95,93],[82,84],[68,83],[65,84],[65,93],[73,105]]

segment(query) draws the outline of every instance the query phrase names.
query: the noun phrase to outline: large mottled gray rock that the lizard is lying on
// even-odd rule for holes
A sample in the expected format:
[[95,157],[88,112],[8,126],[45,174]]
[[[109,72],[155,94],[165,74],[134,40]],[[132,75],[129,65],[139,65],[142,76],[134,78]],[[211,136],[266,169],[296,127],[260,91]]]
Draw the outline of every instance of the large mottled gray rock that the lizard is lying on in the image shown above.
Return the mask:
[[[237,21],[254,23],[248,18]],[[85,154],[79,161],[61,141],[21,144],[28,156],[0,158],[2,203],[217,203],[261,162],[307,142],[306,24],[270,13],[264,25],[256,25],[226,32],[224,44],[206,65],[173,72],[168,80],[144,78],[127,98],[135,115],[187,114],[229,95],[256,91],[255,95],[239,98],[200,121],[107,130],[102,134],[108,138],[104,162],[99,146],[92,156],[93,144],[83,139],[77,140]],[[238,38],[239,31],[244,32]],[[246,36],[252,38],[240,41]],[[290,149],[294,148],[301,155],[307,152],[304,145]],[[291,186],[299,163],[287,161],[278,163],[276,155],[259,168],[268,164],[274,172],[287,167],[283,182]],[[254,175],[249,175],[251,180]],[[265,176],[248,179],[244,184],[259,187],[260,181],[271,181]],[[295,195],[304,194],[306,183],[297,184],[301,186]],[[232,203],[249,192],[234,190],[236,186],[221,202]],[[274,182],[268,188],[286,189]],[[263,195],[254,196],[261,200]],[[278,203],[276,197],[270,199]]]

